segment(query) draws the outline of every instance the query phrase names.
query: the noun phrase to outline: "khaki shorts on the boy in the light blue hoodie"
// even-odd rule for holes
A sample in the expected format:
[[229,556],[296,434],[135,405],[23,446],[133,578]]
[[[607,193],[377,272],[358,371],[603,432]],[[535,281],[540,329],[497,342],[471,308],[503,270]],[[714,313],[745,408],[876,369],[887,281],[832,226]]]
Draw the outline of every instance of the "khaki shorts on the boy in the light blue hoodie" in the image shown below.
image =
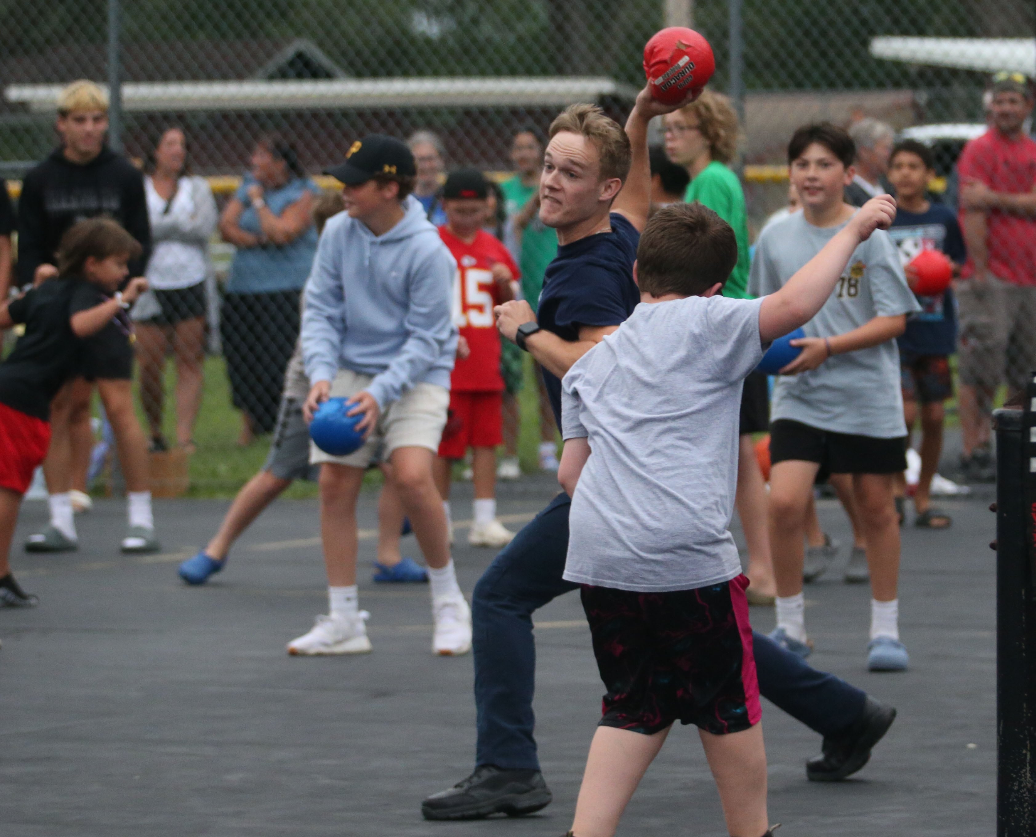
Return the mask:
[[[330,384],[330,397],[349,398],[366,389],[372,380],[372,375],[340,369]],[[449,389],[434,383],[419,383],[388,405],[358,451],[348,456],[332,456],[310,442],[310,463],[335,462],[366,468],[379,454],[388,459],[397,448],[427,448],[436,452],[449,407]]]

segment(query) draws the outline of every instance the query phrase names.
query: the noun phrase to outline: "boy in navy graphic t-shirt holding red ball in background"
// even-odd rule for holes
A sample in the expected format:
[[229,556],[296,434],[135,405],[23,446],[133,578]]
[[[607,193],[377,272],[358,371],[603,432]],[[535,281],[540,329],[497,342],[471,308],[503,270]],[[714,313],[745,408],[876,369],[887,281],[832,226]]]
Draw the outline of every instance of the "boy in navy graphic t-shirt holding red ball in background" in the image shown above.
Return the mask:
[[[965,241],[953,210],[927,198],[928,180],[934,176],[931,151],[916,140],[904,140],[892,151],[889,180],[896,190],[899,210],[889,235],[899,249],[906,282],[913,288],[917,272],[910,261],[922,250],[940,250],[953,262],[957,275],[965,262]],[[943,404],[953,395],[950,358],[957,341],[956,302],[947,288],[937,296],[918,296],[921,313],[906,322],[898,339],[902,372],[903,412],[906,430],[921,418],[921,474],[914,494],[922,528],[943,529],[952,522],[930,502],[931,480],[943,452]],[[900,486],[900,496],[905,480]]]

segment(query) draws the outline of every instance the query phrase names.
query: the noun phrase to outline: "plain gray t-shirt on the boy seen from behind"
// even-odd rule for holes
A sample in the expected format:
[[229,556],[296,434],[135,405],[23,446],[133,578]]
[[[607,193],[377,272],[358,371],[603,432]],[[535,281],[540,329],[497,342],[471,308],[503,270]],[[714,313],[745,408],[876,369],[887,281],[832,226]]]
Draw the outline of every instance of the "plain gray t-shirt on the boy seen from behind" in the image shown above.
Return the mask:
[[760,305],[641,304],[569,370],[563,434],[588,437],[592,454],[572,499],[566,579],[655,593],[741,573],[727,527]]

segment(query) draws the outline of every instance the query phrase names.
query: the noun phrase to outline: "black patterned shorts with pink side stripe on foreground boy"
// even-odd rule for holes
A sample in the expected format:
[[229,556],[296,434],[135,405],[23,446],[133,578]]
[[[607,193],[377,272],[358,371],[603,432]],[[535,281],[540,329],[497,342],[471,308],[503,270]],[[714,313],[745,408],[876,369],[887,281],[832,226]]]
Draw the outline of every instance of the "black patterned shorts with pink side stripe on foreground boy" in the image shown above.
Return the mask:
[[608,690],[600,725],[652,735],[680,721],[722,735],[756,724],[747,586],[743,575],[670,593],[581,585]]

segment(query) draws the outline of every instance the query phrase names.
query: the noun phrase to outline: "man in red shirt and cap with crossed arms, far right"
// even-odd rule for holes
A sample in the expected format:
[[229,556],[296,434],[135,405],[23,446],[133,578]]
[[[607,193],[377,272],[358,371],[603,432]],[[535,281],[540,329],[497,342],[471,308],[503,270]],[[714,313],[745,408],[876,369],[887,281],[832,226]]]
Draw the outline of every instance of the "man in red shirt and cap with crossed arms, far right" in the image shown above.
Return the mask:
[[957,162],[960,228],[968,246],[960,307],[960,426],[966,479],[989,480],[989,414],[1002,381],[1024,389],[1036,369],[1036,142],[1023,127],[1032,112],[1029,80],[992,80],[989,129]]

